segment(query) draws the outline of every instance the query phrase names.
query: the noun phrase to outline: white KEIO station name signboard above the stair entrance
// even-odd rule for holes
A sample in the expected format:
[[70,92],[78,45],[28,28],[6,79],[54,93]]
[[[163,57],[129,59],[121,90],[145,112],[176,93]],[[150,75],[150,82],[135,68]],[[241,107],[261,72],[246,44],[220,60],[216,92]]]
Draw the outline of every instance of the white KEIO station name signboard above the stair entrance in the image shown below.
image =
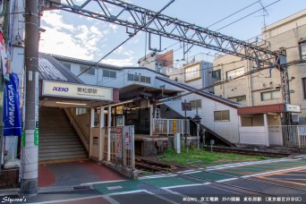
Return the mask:
[[61,81],[43,81],[42,96],[113,100],[113,89]]

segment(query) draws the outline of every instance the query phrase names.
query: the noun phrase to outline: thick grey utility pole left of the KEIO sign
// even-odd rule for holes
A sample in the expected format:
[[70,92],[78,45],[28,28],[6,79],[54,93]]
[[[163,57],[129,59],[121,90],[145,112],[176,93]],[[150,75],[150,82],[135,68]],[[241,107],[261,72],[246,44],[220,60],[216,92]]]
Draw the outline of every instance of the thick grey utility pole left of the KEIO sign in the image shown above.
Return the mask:
[[25,130],[21,142],[21,194],[38,192],[38,0],[25,0]]

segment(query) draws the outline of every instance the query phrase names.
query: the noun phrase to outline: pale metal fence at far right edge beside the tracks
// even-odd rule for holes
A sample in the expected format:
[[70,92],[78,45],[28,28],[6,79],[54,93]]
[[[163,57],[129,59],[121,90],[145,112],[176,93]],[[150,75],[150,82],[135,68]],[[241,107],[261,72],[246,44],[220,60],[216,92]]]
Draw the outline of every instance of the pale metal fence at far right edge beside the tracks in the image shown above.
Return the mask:
[[270,145],[306,148],[306,125],[268,126]]

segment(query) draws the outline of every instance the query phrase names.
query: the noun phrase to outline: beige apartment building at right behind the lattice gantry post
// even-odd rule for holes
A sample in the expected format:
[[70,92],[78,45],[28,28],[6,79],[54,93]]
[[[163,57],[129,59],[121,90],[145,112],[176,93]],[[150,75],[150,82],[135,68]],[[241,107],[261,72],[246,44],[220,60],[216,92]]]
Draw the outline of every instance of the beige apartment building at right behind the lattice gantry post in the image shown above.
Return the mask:
[[[276,51],[285,49],[286,61],[306,59],[306,10],[295,13],[261,30],[261,38],[251,43]],[[234,55],[218,55],[213,62],[214,72],[221,80],[231,80],[245,72],[258,69],[254,62]],[[288,66],[290,104],[301,106],[302,113],[293,114],[293,122],[306,123],[306,64]],[[254,72],[235,81],[215,87],[215,94],[245,106],[265,106],[283,103],[280,72],[268,69]]]

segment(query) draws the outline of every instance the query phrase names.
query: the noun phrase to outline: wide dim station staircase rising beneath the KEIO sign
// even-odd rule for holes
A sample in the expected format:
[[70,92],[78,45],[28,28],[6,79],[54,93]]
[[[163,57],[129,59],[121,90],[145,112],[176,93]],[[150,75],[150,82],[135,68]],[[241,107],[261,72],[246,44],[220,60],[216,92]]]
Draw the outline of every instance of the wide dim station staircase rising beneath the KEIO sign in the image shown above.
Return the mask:
[[63,108],[39,108],[39,161],[87,158],[88,153]]

